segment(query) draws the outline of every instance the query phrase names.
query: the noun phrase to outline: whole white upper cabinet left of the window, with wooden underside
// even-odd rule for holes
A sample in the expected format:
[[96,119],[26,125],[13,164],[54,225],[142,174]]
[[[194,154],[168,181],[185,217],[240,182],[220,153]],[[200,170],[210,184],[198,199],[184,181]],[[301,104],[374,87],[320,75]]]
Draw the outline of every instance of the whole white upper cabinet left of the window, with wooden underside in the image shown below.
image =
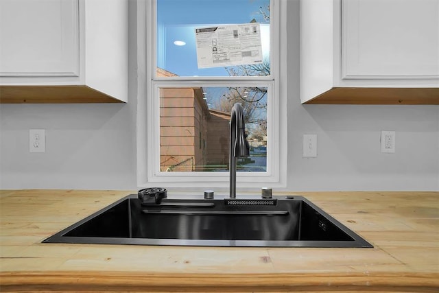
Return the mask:
[[0,1],[1,102],[127,97],[127,0]]

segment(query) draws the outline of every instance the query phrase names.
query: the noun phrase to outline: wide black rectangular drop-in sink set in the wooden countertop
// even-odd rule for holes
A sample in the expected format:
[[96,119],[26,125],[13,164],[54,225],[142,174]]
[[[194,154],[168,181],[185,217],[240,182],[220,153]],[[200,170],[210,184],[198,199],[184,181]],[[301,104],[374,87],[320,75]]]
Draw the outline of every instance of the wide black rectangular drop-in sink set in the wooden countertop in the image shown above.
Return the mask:
[[132,194],[44,243],[176,246],[373,247],[302,196],[165,198]]

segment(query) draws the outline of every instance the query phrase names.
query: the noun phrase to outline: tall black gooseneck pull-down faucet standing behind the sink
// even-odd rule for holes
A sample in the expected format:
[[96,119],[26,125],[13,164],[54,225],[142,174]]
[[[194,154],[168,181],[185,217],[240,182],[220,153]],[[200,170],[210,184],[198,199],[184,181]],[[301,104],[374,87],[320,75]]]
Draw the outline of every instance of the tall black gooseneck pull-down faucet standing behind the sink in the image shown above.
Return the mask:
[[246,157],[250,154],[250,145],[246,139],[246,122],[242,105],[233,105],[230,114],[230,198],[236,198],[236,158]]

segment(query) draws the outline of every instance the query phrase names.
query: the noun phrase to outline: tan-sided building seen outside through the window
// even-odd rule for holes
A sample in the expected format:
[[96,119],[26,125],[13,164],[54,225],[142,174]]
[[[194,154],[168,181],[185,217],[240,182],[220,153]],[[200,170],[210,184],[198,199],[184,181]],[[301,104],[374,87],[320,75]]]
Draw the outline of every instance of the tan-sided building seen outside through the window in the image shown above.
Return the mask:
[[[158,76],[176,76],[163,69]],[[202,88],[160,89],[162,172],[218,169],[228,164],[230,114],[209,109]]]

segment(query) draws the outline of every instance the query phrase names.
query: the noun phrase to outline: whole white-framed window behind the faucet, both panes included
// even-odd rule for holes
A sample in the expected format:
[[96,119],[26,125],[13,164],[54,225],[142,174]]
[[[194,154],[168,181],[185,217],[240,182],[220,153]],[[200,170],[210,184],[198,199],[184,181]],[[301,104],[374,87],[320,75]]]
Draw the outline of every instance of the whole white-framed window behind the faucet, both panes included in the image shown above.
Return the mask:
[[250,143],[237,182],[281,181],[276,3],[147,1],[148,182],[228,181],[235,102],[244,106]]

